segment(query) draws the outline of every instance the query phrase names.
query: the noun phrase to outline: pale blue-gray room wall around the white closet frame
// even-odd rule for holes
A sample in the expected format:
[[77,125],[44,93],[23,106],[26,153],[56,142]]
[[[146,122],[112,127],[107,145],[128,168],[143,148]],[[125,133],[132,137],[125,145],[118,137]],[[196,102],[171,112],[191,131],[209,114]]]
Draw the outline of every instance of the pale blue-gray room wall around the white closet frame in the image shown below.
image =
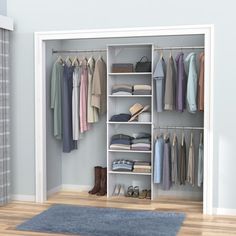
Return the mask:
[[235,1],[11,0],[15,21],[12,41],[13,193],[34,194],[34,51],[33,32],[137,26],[215,25],[214,206],[236,209],[235,186]]

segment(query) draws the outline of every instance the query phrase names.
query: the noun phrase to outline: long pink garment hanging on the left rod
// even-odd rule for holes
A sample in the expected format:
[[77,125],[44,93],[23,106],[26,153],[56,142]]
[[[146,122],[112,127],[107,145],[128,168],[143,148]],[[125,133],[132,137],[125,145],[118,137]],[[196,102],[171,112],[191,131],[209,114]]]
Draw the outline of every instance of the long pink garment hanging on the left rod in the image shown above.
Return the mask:
[[87,102],[88,102],[88,67],[87,59],[82,61],[80,78],[80,132],[84,133],[90,129],[87,120]]

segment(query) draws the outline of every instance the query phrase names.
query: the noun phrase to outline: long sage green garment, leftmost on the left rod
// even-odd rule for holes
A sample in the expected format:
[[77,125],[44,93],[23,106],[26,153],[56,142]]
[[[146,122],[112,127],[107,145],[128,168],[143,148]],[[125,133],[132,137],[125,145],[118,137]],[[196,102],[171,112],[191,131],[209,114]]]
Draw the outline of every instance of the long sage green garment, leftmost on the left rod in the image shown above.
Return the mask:
[[57,60],[52,68],[51,75],[51,108],[53,109],[53,135],[62,139],[62,112],[61,112],[61,83],[63,80],[63,65]]

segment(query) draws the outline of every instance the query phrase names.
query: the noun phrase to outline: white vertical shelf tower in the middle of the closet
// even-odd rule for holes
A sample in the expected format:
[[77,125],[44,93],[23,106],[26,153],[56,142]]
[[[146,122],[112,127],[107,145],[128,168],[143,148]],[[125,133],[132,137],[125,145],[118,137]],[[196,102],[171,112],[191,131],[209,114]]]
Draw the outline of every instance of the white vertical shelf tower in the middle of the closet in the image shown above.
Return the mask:
[[[153,168],[151,173],[134,173],[112,171],[112,162],[117,159],[150,161],[153,166],[153,147],[150,151],[110,150],[110,140],[114,134],[132,135],[148,132],[153,141],[153,89],[151,95],[112,95],[114,84],[146,84],[153,88],[152,72],[112,73],[113,63],[132,63],[135,67],[143,56],[153,62],[153,44],[122,44],[107,46],[107,197],[111,197],[116,184],[139,186],[139,190],[151,189],[153,199]],[[153,68],[153,66],[152,66]],[[150,122],[111,122],[112,115],[129,113],[129,108],[140,103],[149,105]],[[152,142],[153,143],[153,142]]]

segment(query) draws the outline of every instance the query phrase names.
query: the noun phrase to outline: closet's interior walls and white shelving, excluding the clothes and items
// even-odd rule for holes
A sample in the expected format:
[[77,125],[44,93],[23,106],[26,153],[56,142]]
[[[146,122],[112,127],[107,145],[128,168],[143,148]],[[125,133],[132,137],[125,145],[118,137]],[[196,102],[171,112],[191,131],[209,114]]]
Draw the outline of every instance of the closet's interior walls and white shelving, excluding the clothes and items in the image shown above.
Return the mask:
[[[55,40],[46,42],[46,161],[47,161],[47,191],[48,195],[60,189],[88,191],[94,182],[94,166],[107,167],[107,196],[113,197],[117,184],[123,184],[125,190],[129,186],[138,186],[139,190],[151,190],[151,199],[161,197],[203,199],[203,187],[172,184],[169,190],[163,190],[163,185],[154,183],[155,142],[161,134],[168,133],[170,143],[174,134],[181,142],[184,134],[188,153],[191,135],[196,147],[194,156],[198,157],[198,144],[201,133],[204,132],[204,112],[191,114],[186,109],[158,112],[156,104],[156,81],[154,71],[163,55],[166,63],[170,54],[175,59],[179,52],[184,58],[191,53],[198,55],[204,51],[204,35],[155,36],[155,37],[124,37],[79,40]],[[58,56],[72,58],[94,59],[102,56],[107,65],[107,113],[100,117],[90,131],[78,142],[78,149],[63,153],[60,141],[53,137],[53,114],[50,109],[50,78],[53,63]],[[143,56],[151,62],[150,72],[113,72],[117,63],[131,63],[135,67]],[[199,70],[198,59],[197,71]],[[176,66],[176,65],[175,65]],[[151,92],[147,94],[113,94],[112,89],[119,84],[148,85]],[[150,119],[132,122],[111,121],[111,117],[120,113],[130,113],[134,104],[148,105],[146,112]],[[144,112],[143,112],[144,113]],[[150,134],[150,150],[111,149],[111,139],[116,134],[132,136],[134,133]],[[188,155],[187,155],[188,156]],[[114,171],[112,163],[115,160],[150,162],[150,172]],[[197,158],[195,159],[197,166]]]

